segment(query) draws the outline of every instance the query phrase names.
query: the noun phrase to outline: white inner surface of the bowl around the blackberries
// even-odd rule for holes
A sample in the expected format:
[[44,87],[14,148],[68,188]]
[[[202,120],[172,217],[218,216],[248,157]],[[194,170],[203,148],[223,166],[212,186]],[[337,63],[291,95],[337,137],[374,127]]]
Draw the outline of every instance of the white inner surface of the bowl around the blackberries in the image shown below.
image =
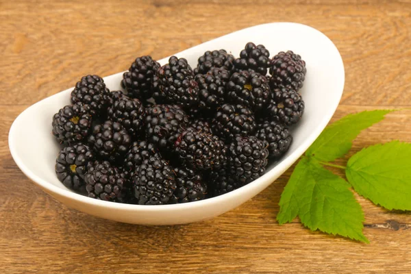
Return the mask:
[[[270,23],[242,29],[175,55],[186,58],[189,64],[195,67],[197,59],[204,51],[226,49],[238,56],[249,41],[255,42],[256,45],[263,44],[269,49],[271,57],[279,51],[292,50],[301,55],[307,67],[306,80],[301,90],[306,103],[303,119],[292,128],[294,140],[288,153],[281,161],[268,166],[264,180],[256,180],[247,186],[253,188],[264,181],[264,187],[258,188],[260,191],[295,162],[327,125],[343,92],[344,67],[331,40],[312,27],[295,23]],[[168,58],[164,58],[159,62],[166,64],[167,60]],[[110,90],[121,89],[122,75],[123,73],[117,73],[104,78]],[[59,192],[60,195],[67,195],[66,192],[71,190],[65,188],[55,176],[55,158],[60,151],[60,145],[51,134],[51,120],[55,112],[70,103],[72,89],[58,92],[25,110],[14,121],[9,136],[10,151],[20,169],[42,188]],[[91,200],[88,197],[83,198]]]

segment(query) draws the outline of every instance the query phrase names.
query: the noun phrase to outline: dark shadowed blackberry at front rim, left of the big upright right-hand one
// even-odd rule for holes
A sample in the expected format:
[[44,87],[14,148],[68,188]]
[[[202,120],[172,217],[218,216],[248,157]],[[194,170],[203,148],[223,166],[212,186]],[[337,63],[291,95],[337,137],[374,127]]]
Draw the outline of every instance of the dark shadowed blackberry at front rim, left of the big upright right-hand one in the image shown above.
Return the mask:
[[219,171],[211,171],[208,174],[208,194],[210,197],[216,197],[240,188],[242,184],[234,179],[230,174],[228,167]]

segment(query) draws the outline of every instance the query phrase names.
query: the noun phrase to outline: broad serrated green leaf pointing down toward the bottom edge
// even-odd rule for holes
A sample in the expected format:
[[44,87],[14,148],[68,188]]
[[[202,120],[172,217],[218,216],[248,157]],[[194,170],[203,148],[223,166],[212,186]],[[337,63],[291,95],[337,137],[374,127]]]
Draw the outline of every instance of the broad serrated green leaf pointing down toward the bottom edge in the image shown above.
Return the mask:
[[364,213],[350,186],[316,160],[302,158],[279,201],[279,223],[299,216],[311,230],[369,242],[362,234]]

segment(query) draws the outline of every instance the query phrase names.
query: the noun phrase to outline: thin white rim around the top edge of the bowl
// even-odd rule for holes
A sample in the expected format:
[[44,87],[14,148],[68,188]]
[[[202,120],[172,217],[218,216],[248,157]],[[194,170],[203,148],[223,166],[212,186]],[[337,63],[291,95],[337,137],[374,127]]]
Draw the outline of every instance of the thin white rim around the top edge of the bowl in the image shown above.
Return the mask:
[[[36,103],[34,103],[33,105],[30,105],[28,108],[26,108],[25,110],[23,110],[23,112],[21,112],[20,114],[18,114],[18,116],[16,117],[16,119],[14,119],[11,127],[10,127],[10,131],[9,131],[9,136],[8,136],[8,143],[9,143],[9,149],[10,149],[10,153],[12,155],[12,158],[14,160],[14,162],[16,162],[17,166],[19,169],[21,169],[21,171],[29,178],[32,180],[32,182],[34,182],[34,184],[37,184],[38,186],[40,186],[40,188],[42,188],[42,190],[44,190],[45,192],[49,193],[50,195],[58,195],[60,197],[65,197],[66,199],[72,199],[75,200],[76,202],[79,203],[88,203],[91,206],[97,206],[100,208],[110,208],[110,209],[116,209],[116,210],[126,210],[126,211],[174,211],[174,210],[183,210],[183,209],[188,209],[188,208],[201,208],[203,206],[211,206],[212,204],[217,204],[217,203],[221,203],[222,201],[226,200],[226,199],[230,199],[230,198],[235,198],[235,197],[240,197],[243,194],[249,192],[249,190],[251,188],[254,188],[256,186],[258,186],[258,184],[262,184],[263,182],[270,180],[271,177],[274,177],[275,174],[278,172],[278,170],[284,170],[286,171],[287,169],[290,168],[290,166],[292,166],[292,164],[294,162],[296,162],[298,160],[298,158],[303,155],[303,153],[310,147],[310,145],[312,145],[312,143],[316,140],[316,138],[319,137],[319,135],[321,134],[321,132],[323,132],[323,130],[325,129],[326,125],[329,123],[329,121],[332,119],[332,116],[334,115],[334,113],[337,110],[337,107],[340,103],[340,99],[343,96],[343,90],[344,90],[344,86],[345,86],[345,68],[344,68],[344,63],[343,63],[343,58],[340,55],[340,52],[338,51],[338,48],[336,47],[336,45],[334,45],[334,42],[332,42],[332,40],[330,40],[325,34],[323,34],[322,32],[320,32],[318,29],[315,29],[314,27],[310,27],[308,25],[304,25],[301,23],[292,23],[292,22],[273,22],[273,23],[264,23],[264,24],[260,24],[260,25],[254,25],[251,27],[247,27],[244,29],[239,29],[235,32],[231,32],[229,34],[225,34],[223,36],[219,36],[217,38],[214,38],[212,40],[208,40],[206,42],[201,43],[200,45],[203,44],[207,44],[209,42],[212,42],[216,39],[219,38],[223,38],[225,36],[229,36],[232,34],[235,34],[236,32],[242,32],[246,29],[253,29],[256,27],[262,27],[262,26],[266,26],[266,25],[298,25],[299,27],[306,27],[308,29],[314,30],[314,32],[319,32],[322,36],[324,36],[327,40],[329,40],[329,42],[331,42],[330,46],[334,47],[334,49],[336,50],[336,52],[338,53],[338,65],[340,65],[340,67],[343,69],[343,75],[341,75],[342,77],[342,86],[340,87],[340,95],[338,100],[335,101],[335,103],[332,104],[332,108],[329,108],[329,110],[326,112],[326,114],[323,116],[323,118],[321,119],[321,121],[319,121],[319,123],[317,123],[317,126],[314,128],[314,130],[307,136],[306,140],[304,140],[301,145],[299,147],[297,147],[297,149],[295,149],[294,152],[292,152],[290,155],[288,155],[288,157],[284,158],[283,160],[281,160],[280,162],[278,162],[273,169],[271,169],[270,171],[264,173],[264,175],[262,175],[261,177],[259,177],[258,179],[255,179],[253,182],[250,182],[249,184],[242,186],[236,190],[233,190],[231,192],[227,192],[224,195],[220,195],[217,197],[212,197],[212,198],[208,198],[208,199],[204,199],[204,200],[200,200],[200,201],[192,201],[189,203],[177,203],[177,204],[166,204],[166,205],[136,205],[136,204],[127,204],[127,203],[114,203],[111,201],[102,201],[102,200],[98,200],[98,199],[92,199],[90,197],[84,196],[84,195],[80,195],[77,194],[76,192],[73,192],[69,189],[64,189],[64,188],[60,188],[58,186],[54,186],[53,184],[47,182],[47,180],[42,179],[41,177],[39,177],[38,175],[35,175],[29,168],[27,168],[27,166],[25,166],[22,158],[20,158],[18,156],[18,153],[16,152],[16,147],[14,145],[14,136],[16,134],[18,134],[16,132],[16,124],[18,123],[18,121],[21,119],[21,116],[29,111],[32,108],[36,108],[37,105],[41,104],[42,101],[45,101],[46,99],[53,97],[55,95],[58,95],[58,93],[60,92],[64,92],[66,90],[60,91],[54,95],[51,95],[49,97],[46,97],[45,99],[42,99]],[[199,47],[200,45],[196,45],[194,47],[190,47],[188,49],[193,49],[195,47]],[[188,50],[185,49],[184,51]],[[184,51],[179,51],[178,53],[175,53],[174,55],[180,55],[181,53],[184,53]],[[166,57],[169,58],[169,57]],[[162,58],[161,60],[164,60],[166,58]],[[118,73],[114,73],[112,75],[116,75]],[[110,77],[112,75],[108,75],[105,77]],[[103,77],[104,78],[104,77]],[[67,90],[71,90],[72,88],[69,88]],[[284,171],[282,173],[284,173]],[[275,182],[275,179],[273,180],[273,182]],[[273,182],[269,183],[272,184]],[[269,186],[269,184],[267,186]]]

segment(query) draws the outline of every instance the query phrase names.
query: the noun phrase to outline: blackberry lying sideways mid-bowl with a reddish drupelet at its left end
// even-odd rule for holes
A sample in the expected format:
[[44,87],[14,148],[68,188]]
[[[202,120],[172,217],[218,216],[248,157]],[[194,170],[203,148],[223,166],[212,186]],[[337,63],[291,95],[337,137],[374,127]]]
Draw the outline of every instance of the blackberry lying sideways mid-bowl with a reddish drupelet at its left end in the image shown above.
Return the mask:
[[177,138],[174,147],[179,161],[189,169],[220,169],[227,161],[224,142],[219,137],[191,127]]

